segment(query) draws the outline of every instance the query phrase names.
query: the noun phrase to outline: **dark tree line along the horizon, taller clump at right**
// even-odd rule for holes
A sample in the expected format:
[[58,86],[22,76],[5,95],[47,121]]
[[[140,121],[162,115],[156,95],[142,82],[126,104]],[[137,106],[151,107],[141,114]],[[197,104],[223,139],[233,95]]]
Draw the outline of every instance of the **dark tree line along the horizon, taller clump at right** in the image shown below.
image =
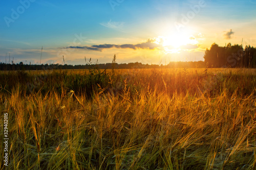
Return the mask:
[[[169,62],[167,65],[159,64],[142,64],[135,63],[114,63],[115,68],[204,68],[204,67],[256,67],[256,48],[246,45],[228,43],[225,46],[219,46],[213,43],[204,53],[204,61],[188,62]],[[6,64],[0,63],[0,70],[46,70],[46,69],[89,69],[98,67],[99,69],[112,69],[113,63],[88,63],[86,65],[61,65],[61,64]]]

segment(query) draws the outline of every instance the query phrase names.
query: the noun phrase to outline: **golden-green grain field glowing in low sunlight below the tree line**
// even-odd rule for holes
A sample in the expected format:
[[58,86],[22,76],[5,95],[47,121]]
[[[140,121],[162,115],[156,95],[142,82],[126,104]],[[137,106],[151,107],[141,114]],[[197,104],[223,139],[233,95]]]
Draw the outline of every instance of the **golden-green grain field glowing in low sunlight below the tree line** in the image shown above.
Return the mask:
[[256,168],[256,69],[92,67],[0,80],[9,169]]

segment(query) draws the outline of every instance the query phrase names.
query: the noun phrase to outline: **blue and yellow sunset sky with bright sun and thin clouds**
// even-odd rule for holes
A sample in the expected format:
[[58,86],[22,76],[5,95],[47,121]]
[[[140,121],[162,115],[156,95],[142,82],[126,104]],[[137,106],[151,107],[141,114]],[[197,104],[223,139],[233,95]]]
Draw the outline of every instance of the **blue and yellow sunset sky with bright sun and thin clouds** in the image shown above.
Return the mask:
[[255,0],[0,2],[0,62],[204,61],[212,43],[256,46]]

